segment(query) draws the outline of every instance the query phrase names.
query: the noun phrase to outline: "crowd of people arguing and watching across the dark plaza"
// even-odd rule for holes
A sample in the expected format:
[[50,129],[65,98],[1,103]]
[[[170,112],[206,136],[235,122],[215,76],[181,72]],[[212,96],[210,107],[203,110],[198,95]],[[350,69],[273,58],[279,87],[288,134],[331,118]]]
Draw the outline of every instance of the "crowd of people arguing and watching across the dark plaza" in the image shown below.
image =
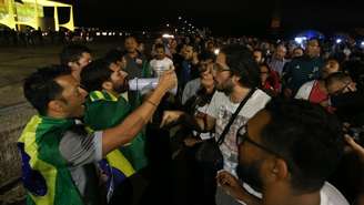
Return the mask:
[[24,80],[38,111],[18,142],[27,203],[364,204],[363,53],[130,35],[93,59],[69,44]]

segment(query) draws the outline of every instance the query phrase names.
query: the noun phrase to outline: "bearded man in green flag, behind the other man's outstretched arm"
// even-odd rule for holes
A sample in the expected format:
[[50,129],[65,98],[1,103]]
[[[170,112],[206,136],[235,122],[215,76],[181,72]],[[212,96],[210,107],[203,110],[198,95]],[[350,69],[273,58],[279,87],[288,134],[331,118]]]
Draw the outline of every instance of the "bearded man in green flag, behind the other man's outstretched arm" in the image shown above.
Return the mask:
[[[130,114],[130,103],[121,95],[128,91],[128,73],[123,71],[125,61],[123,53],[110,51],[103,59],[89,64],[81,73],[81,84],[90,92],[87,100],[84,123],[92,130],[112,127]],[[135,171],[146,166],[143,133],[121,152],[131,162]]]

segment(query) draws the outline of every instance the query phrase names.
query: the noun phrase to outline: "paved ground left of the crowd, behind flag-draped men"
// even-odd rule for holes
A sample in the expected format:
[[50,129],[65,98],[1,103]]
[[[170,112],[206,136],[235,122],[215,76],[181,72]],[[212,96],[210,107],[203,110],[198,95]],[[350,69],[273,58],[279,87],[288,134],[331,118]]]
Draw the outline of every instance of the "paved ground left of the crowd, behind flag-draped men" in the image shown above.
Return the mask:
[[[88,44],[100,57],[119,43]],[[57,64],[62,45],[0,48],[0,204],[22,202],[17,140],[34,114],[22,93],[22,80],[38,68]]]

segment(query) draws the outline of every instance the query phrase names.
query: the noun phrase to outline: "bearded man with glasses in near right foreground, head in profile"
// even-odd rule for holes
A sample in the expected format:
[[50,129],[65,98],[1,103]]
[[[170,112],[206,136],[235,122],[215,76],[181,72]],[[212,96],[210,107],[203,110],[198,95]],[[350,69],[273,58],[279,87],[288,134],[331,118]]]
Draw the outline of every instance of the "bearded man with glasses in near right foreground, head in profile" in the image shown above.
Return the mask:
[[326,180],[344,153],[337,119],[306,101],[271,101],[240,129],[239,178],[262,192],[257,198],[228,172],[218,182],[246,204],[348,205]]

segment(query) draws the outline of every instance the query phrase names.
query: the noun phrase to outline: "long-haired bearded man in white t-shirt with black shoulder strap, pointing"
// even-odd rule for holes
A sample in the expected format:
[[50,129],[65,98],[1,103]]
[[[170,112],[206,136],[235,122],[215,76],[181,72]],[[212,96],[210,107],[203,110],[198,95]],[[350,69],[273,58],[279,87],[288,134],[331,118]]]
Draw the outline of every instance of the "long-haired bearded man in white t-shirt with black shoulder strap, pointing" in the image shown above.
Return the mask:
[[[205,119],[190,117],[180,111],[166,111],[161,125],[163,126],[180,119],[200,132],[215,129],[215,137],[219,139],[240,103],[251,91],[254,91],[231,124],[224,141],[220,145],[224,160],[223,170],[236,175],[236,131],[257,111],[263,109],[271,98],[263,91],[255,89],[260,82],[259,66],[252,52],[243,45],[233,44],[221,50],[213,65],[213,78],[218,92],[211,100]],[[215,199],[218,205],[239,204],[221,187],[216,189]]]

